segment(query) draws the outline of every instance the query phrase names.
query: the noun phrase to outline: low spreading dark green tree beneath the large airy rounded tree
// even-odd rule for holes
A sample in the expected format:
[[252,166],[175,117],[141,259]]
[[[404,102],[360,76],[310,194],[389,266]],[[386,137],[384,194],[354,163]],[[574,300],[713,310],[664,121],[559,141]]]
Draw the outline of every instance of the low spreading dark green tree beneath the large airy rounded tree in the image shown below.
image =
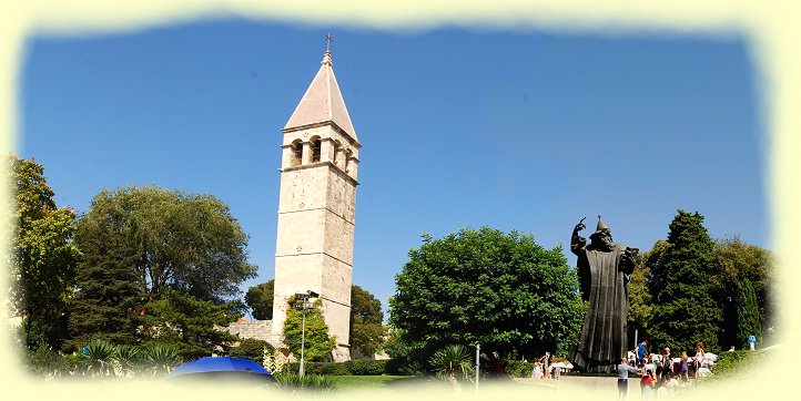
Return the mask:
[[170,346],[191,360],[209,357],[217,349],[224,352],[236,340],[219,327],[227,327],[241,316],[239,304],[219,305],[172,288],[162,292],[161,299],[145,305],[150,315],[146,335],[152,342]]

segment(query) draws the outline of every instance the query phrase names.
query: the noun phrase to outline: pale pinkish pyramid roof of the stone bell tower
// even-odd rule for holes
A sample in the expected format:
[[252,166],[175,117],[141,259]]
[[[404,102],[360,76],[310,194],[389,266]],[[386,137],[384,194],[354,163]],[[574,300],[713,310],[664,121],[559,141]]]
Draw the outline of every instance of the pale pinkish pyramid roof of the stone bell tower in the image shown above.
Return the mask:
[[339,85],[336,83],[336,76],[334,76],[333,62],[328,51],[323,55],[317,75],[308,85],[306,93],[295,107],[290,121],[286,122],[284,130],[327,121],[339,126],[354,141],[358,142],[356,131],[354,131],[353,123],[351,123],[351,116],[347,114],[347,107],[345,107],[345,101],[342,99]]

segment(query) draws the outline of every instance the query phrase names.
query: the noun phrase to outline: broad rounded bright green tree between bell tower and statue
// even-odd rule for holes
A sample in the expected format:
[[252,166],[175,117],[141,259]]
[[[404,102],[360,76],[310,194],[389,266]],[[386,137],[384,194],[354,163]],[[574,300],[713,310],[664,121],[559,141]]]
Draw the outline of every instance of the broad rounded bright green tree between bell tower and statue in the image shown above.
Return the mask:
[[487,227],[436,240],[424,234],[395,284],[394,341],[422,363],[455,343],[480,343],[501,356],[564,356],[586,310],[561,248]]

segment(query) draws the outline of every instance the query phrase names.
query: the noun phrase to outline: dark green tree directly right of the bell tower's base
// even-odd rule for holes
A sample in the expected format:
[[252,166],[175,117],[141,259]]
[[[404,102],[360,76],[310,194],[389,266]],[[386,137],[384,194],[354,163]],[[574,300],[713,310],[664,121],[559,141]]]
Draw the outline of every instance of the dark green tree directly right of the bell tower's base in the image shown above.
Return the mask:
[[351,287],[351,349],[365,357],[384,347],[386,328],[381,301],[359,286]]

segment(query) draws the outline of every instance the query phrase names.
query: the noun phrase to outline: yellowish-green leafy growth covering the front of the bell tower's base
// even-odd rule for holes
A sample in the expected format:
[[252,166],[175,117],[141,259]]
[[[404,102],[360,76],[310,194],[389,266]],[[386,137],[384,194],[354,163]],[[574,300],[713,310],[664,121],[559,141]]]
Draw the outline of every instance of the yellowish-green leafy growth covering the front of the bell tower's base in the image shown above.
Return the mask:
[[[295,304],[295,298],[290,297],[290,305]],[[325,325],[322,305],[317,299],[313,309],[305,310],[305,343],[303,357],[306,361],[323,362],[331,356],[336,345],[336,338],[328,336],[328,326]],[[288,308],[284,321],[284,343],[296,358],[301,357],[301,342],[303,341],[303,313],[301,309]]]

